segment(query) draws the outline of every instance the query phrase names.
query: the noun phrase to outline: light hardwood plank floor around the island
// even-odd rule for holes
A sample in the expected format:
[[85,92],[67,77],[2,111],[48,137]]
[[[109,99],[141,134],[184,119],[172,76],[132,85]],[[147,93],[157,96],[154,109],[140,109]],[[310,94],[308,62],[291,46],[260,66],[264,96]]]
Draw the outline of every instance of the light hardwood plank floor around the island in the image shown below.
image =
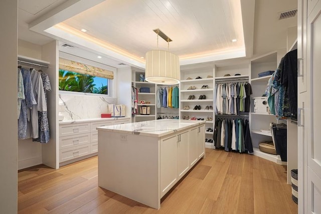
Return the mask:
[[159,210],[97,186],[97,157],[58,170],[18,173],[19,213],[297,213],[286,167],[259,157],[206,149]]

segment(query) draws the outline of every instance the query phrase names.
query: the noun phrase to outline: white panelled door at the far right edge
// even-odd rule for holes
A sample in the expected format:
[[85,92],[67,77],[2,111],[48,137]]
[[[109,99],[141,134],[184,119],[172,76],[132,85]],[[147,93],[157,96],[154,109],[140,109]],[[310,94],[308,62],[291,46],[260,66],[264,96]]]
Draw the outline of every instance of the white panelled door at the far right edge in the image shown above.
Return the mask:
[[[309,4],[317,1],[308,0]],[[306,114],[311,129],[307,134],[307,211],[321,213],[321,1],[307,18],[307,72],[310,74],[310,114]],[[306,108],[305,108],[306,109]]]

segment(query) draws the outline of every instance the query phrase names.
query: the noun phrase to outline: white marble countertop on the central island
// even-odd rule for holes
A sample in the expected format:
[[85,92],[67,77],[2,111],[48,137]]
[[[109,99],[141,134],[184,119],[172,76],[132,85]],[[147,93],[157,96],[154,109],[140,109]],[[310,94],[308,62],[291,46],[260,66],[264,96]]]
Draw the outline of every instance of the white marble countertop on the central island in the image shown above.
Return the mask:
[[192,128],[194,126],[198,126],[200,124],[205,124],[205,121],[162,119],[130,124],[97,127],[97,130],[130,135],[162,137],[175,132],[179,132],[181,130]]

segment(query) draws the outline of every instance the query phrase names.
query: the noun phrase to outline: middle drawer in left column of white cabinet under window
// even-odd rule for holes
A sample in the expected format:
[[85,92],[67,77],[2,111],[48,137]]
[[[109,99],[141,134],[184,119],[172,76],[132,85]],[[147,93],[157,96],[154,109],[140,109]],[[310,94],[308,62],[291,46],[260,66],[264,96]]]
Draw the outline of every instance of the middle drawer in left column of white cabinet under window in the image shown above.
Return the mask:
[[66,149],[73,146],[83,145],[90,143],[89,133],[80,135],[71,135],[59,138],[59,148]]

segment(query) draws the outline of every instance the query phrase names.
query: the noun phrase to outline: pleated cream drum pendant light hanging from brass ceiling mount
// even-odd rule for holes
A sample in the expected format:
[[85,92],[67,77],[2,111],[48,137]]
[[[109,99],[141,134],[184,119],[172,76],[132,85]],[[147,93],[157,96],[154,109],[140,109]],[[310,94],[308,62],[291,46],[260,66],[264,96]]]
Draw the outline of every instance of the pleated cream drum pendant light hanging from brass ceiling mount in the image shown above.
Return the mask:
[[[161,30],[153,30],[168,43],[172,41]],[[163,50],[152,50],[146,53],[145,80],[161,85],[174,85],[180,83],[180,59],[177,55]]]

